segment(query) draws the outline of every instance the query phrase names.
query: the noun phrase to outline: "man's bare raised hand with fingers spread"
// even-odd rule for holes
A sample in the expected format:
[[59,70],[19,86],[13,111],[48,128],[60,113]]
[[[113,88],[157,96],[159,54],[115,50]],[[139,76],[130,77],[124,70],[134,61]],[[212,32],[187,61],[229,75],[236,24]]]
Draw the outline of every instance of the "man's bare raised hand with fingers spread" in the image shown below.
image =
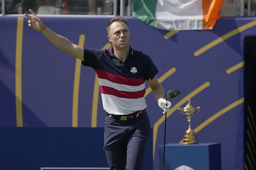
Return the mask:
[[38,32],[42,32],[42,30],[45,29],[45,25],[44,23],[36,16],[36,14],[34,13],[34,11],[32,9],[29,9],[29,12],[32,14],[24,14],[27,18],[29,18],[28,23],[29,23],[29,27],[33,28],[34,30],[38,31]]

